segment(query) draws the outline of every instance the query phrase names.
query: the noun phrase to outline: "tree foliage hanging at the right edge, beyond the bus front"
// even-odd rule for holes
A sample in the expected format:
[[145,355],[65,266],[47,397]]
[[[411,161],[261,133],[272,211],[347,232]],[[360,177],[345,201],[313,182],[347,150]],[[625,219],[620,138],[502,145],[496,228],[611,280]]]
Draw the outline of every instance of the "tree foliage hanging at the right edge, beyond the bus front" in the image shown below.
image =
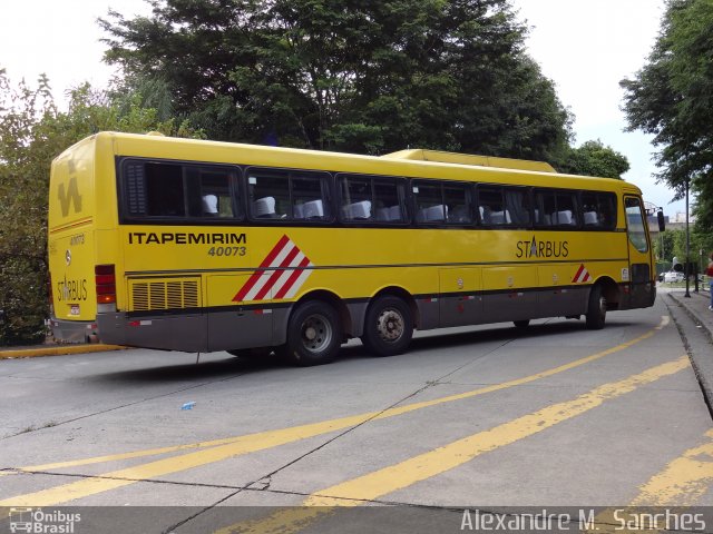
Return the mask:
[[713,2],[667,0],[644,68],[624,79],[629,129],[653,134],[660,180],[697,194],[697,228],[713,231]]

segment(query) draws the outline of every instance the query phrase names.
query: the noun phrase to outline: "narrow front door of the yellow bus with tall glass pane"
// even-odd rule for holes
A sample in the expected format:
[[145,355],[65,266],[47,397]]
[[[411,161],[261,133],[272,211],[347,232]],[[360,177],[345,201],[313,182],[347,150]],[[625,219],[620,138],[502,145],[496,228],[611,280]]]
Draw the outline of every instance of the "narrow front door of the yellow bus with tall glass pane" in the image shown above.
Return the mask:
[[[653,304],[651,243],[646,228],[646,215],[641,198],[624,197],[626,234],[628,237],[628,270],[622,270],[622,281],[628,281],[628,307],[638,308]],[[626,299],[624,300],[626,303]]]

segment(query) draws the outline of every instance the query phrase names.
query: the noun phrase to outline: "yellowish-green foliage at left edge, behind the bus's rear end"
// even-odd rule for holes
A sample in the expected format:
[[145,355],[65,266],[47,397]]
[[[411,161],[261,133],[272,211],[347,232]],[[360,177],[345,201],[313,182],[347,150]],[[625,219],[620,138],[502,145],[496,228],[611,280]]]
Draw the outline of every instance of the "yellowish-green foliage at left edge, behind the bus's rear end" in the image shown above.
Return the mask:
[[51,160],[99,130],[199,136],[187,121],[158,120],[138,101],[124,111],[88,85],[60,111],[42,75],[12,86],[0,69],[0,345],[43,340],[47,309],[47,207]]

